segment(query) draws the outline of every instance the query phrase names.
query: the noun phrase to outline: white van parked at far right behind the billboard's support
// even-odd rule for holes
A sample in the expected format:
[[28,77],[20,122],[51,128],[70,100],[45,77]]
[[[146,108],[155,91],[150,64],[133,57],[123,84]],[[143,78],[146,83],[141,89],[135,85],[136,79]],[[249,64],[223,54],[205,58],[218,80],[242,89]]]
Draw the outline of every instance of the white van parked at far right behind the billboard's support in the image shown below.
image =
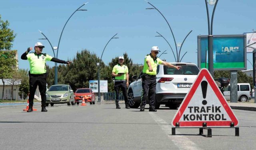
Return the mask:
[[[224,88],[224,97],[230,100],[230,84]],[[237,84],[237,98],[240,102],[246,102],[251,99],[251,87],[249,83]]]

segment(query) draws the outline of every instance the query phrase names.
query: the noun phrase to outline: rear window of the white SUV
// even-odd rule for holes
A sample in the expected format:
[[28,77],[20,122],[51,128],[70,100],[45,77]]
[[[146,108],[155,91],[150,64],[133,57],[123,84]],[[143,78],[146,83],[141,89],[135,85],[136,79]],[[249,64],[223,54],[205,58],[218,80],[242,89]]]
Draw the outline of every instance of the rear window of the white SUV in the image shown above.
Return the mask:
[[183,64],[177,64],[176,66],[181,66],[181,68],[179,70],[176,70],[175,68],[164,66],[164,74],[197,75],[200,71],[197,66],[183,65]]

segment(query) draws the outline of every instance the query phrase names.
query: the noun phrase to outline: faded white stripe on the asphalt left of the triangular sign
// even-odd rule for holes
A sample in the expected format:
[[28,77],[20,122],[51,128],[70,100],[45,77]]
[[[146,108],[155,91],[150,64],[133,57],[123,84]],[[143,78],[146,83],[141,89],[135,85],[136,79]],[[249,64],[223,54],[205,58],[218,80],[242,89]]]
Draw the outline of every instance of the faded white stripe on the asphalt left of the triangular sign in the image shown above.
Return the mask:
[[[172,142],[180,149],[180,150],[202,150],[201,148],[197,147],[197,145],[190,141],[185,136],[175,135],[172,136],[172,126],[165,122],[163,119],[159,118],[155,112],[148,112],[152,118],[156,121],[156,123],[162,128],[162,130],[167,134],[168,138],[172,140]],[[176,134],[180,134],[176,130]]]

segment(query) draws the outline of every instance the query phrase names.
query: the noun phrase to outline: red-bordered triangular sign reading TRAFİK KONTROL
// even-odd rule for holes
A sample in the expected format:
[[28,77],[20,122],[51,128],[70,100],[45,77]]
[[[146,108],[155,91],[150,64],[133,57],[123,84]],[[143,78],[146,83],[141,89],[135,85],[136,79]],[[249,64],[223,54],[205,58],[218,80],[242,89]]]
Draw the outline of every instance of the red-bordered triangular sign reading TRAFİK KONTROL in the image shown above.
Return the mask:
[[238,119],[210,72],[200,70],[186,94],[174,118],[174,127],[230,127],[237,126]]

